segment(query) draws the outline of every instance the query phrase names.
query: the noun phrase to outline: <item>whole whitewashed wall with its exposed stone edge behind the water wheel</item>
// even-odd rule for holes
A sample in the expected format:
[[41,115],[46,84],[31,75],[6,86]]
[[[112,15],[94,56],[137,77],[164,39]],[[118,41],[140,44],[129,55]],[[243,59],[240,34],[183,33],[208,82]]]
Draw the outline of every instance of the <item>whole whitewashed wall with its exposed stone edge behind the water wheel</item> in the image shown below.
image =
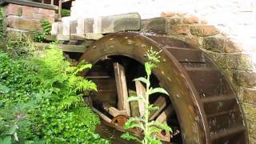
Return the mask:
[[[76,0],[71,19],[138,12],[166,18],[166,36],[204,50],[233,83],[256,143],[255,0]],[[143,22],[142,22],[143,23]]]

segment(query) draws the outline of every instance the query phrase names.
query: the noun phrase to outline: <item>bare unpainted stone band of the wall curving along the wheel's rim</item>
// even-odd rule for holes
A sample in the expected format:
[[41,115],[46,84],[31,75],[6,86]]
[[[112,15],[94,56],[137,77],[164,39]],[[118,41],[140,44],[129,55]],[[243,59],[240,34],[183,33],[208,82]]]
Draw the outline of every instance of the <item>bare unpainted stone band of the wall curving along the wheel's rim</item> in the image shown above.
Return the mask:
[[252,54],[243,50],[215,26],[195,16],[177,13],[166,17],[166,36],[178,38],[210,55],[232,82],[242,102],[249,130],[250,143],[256,142],[256,71]]

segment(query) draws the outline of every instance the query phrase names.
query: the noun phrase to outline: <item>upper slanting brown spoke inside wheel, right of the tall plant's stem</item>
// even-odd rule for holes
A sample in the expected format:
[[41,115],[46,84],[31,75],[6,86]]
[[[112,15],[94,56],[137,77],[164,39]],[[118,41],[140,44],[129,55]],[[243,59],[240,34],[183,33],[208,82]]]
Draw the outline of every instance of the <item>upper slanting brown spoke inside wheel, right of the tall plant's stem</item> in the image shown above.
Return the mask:
[[154,106],[158,106],[158,110],[154,110],[150,113],[150,121],[157,118],[161,111],[166,107],[166,98],[164,96],[159,96],[158,99],[154,102]]

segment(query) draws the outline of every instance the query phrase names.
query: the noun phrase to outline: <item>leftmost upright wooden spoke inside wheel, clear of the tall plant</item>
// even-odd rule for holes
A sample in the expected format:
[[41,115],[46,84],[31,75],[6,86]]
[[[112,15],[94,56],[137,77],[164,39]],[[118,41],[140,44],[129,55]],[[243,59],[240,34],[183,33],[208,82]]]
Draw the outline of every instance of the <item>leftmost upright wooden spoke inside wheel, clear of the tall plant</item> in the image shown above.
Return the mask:
[[122,65],[118,62],[114,64],[114,76],[118,91],[118,110],[126,110],[127,115],[130,116],[129,102],[126,102],[128,98],[128,90],[126,85],[126,72]]

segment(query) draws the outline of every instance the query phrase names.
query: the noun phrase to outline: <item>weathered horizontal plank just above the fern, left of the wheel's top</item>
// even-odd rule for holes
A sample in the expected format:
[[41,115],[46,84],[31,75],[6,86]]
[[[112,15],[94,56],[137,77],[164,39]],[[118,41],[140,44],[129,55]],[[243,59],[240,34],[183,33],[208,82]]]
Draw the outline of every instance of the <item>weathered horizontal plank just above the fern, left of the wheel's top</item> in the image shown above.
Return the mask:
[[[47,49],[47,48],[50,48],[50,45],[52,45],[52,44],[42,43],[42,42],[34,42],[34,45],[40,49]],[[56,45],[54,45],[54,47],[58,48],[62,51],[67,51],[67,52],[84,53],[86,51],[86,46],[56,44]]]

